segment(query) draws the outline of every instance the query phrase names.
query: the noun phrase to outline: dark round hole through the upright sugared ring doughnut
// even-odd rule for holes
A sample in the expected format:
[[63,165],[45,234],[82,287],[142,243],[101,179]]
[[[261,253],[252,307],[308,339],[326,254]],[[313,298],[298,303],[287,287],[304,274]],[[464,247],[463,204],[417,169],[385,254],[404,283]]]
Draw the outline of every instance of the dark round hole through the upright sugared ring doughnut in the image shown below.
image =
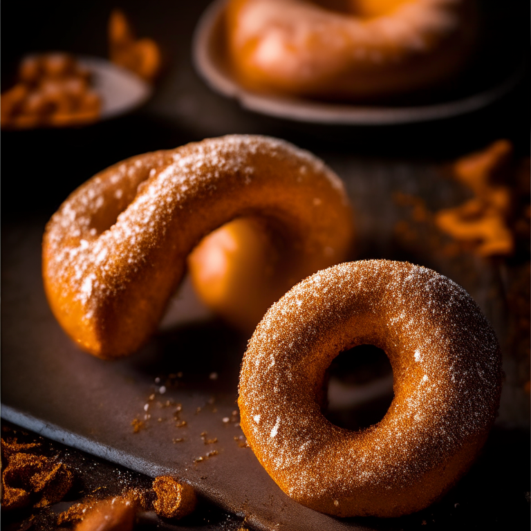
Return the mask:
[[393,369],[381,348],[349,348],[335,357],[327,373],[328,408],[324,416],[330,422],[358,430],[384,418],[394,397]]

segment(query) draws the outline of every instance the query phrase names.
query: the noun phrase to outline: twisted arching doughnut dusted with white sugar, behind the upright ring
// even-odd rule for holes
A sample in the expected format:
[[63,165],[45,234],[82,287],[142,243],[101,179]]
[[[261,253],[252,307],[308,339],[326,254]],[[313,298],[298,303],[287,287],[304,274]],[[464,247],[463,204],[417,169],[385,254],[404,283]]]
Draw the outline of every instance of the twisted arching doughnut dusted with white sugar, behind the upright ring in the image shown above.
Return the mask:
[[301,277],[341,260],[352,235],[341,180],[287,142],[235,135],[147,153],[88,180],[48,222],[55,317],[90,353],[131,353],[155,330],[189,252],[239,216],[279,227]]

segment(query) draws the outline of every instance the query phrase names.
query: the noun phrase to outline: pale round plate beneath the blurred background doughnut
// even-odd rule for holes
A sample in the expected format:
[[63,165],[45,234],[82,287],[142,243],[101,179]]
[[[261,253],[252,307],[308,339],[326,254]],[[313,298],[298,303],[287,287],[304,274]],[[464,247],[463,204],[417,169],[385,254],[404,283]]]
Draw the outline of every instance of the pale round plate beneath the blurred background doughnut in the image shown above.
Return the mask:
[[524,68],[484,91],[449,101],[419,106],[369,106],[324,103],[297,97],[263,95],[241,86],[232,76],[225,57],[223,12],[227,0],[214,1],[203,13],[193,43],[198,73],[216,92],[234,97],[257,113],[297,122],[342,125],[391,125],[453,118],[486,107],[508,93],[521,78]]

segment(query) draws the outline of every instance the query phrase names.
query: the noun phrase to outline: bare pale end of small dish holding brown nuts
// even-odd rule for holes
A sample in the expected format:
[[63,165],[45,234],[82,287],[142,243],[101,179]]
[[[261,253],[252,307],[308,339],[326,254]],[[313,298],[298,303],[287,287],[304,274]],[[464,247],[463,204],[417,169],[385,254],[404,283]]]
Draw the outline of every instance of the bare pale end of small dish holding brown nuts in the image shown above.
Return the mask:
[[151,85],[121,66],[100,57],[79,57],[78,60],[91,72],[91,84],[102,97],[100,120],[128,113],[151,96]]

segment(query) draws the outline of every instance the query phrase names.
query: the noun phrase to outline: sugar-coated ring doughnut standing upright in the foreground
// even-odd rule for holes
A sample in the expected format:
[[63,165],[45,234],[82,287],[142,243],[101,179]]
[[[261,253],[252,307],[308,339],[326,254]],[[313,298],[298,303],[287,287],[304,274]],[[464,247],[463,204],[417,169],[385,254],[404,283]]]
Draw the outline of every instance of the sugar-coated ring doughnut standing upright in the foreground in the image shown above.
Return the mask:
[[[340,351],[373,344],[389,357],[384,418],[350,431],[319,407]],[[418,511],[472,465],[501,392],[496,335],[472,298],[409,263],[335,265],[297,284],[265,314],[240,374],[241,427],[293,499],[336,516]]]

